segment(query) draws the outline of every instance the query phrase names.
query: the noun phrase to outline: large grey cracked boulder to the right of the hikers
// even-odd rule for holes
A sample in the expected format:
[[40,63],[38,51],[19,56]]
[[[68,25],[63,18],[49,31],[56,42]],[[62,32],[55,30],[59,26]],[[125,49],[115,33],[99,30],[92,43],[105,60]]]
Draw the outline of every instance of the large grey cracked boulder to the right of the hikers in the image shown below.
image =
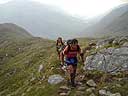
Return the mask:
[[102,49],[85,60],[84,70],[100,70],[116,73],[128,70],[128,48]]

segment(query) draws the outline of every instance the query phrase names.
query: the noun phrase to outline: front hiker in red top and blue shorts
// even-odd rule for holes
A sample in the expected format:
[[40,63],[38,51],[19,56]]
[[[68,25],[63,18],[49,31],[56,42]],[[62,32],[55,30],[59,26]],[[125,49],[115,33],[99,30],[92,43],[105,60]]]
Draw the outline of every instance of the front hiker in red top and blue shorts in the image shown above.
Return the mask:
[[[63,50],[65,56],[65,62],[67,64],[67,72],[70,75],[70,83],[72,87],[75,87],[75,75],[77,69],[77,54],[80,54],[81,49],[76,39],[70,40],[69,44]],[[83,60],[82,60],[83,61]]]

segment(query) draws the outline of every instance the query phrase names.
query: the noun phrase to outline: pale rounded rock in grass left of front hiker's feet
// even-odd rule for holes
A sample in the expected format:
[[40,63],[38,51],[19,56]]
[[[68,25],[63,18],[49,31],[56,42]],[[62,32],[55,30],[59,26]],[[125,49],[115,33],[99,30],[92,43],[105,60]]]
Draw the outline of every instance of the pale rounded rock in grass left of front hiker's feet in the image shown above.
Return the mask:
[[64,80],[64,78],[61,75],[51,75],[48,78],[48,83],[58,84],[58,83],[62,82],[63,80]]

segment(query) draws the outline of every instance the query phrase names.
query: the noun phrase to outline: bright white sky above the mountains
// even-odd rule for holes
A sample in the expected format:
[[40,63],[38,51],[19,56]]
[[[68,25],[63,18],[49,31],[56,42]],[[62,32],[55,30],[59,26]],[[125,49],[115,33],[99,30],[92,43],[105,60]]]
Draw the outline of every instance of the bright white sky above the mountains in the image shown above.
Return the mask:
[[[0,4],[7,3],[12,0],[0,0]],[[79,16],[92,18],[110,9],[126,2],[127,0],[29,0],[42,4],[55,6],[66,13]]]

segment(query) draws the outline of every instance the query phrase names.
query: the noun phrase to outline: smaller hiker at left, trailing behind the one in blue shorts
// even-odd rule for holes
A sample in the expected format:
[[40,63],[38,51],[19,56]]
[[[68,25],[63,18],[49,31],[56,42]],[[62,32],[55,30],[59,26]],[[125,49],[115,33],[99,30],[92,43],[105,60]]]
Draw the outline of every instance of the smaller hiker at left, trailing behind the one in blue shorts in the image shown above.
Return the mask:
[[58,37],[57,41],[56,41],[56,51],[58,53],[58,57],[60,60],[60,52],[63,50],[64,47],[64,43],[61,37]]

